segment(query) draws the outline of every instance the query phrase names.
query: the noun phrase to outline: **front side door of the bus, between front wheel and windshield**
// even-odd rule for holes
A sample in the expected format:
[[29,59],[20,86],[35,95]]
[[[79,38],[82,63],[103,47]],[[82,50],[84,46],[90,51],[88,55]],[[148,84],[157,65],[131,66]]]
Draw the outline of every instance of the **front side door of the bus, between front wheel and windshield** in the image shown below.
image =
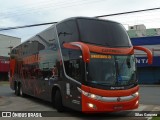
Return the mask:
[[78,91],[78,87],[81,87],[82,80],[84,80],[84,62],[82,60],[81,50],[65,49],[62,51],[65,69],[65,94],[67,97],[67,104],[74,107],[74,109],[80,109],[81,106],[81,94]]

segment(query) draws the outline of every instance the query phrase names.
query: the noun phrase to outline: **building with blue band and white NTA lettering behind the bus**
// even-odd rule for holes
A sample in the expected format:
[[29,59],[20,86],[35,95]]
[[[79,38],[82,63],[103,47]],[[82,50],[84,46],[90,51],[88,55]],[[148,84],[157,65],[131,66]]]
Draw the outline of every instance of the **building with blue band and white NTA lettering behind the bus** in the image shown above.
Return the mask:
[[149,65],[147,56],[142,51],[136,51],[138,80],[140,84],[160,84],[160,28],[146,29],[144,25],[130,26],[128,34],[134,46],[149,48],[154,57]]

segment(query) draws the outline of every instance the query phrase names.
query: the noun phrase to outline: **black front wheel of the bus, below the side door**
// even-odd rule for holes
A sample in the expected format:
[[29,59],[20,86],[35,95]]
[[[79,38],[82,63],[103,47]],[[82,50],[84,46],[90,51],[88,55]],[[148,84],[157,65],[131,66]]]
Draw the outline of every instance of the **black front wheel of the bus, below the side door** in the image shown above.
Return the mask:
[[54,102],[55,102],[55,108],[57,109],[57,111],[63,112],[64,108],[62,104],[62,96],[59,90],[56,91]]

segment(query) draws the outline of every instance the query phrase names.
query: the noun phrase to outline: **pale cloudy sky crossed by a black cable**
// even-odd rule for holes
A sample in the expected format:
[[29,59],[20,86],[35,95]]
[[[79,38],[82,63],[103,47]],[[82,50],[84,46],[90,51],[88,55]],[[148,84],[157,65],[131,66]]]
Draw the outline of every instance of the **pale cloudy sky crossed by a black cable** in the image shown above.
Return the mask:
[[[0,29],[156,7],[160,7],[160,0],[0,0]],[[160,10],[103,19],[120,22],[126,29],[138,24],[144,24],[146,28],[160,28]],[[0,34],[19,37],[24,42],[49,26],[0,31]]]

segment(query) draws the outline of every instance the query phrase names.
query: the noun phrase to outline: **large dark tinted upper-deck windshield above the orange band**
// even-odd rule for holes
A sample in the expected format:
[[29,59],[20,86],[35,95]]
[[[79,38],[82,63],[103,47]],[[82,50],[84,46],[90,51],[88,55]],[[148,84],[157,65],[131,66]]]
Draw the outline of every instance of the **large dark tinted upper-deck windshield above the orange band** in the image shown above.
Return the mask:
[[78,19],[81,41],[109,47],[131,46],[124,27],[116,22]]

